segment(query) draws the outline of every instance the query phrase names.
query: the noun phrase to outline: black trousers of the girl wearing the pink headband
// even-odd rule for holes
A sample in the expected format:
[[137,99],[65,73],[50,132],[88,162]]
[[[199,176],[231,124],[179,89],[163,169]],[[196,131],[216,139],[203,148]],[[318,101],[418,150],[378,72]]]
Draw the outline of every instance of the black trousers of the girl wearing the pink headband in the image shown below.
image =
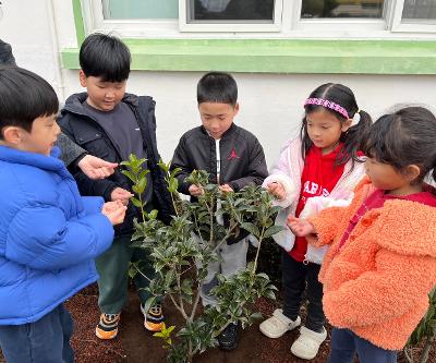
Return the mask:
[[283,315],[292,320],[300,315],[304,290],[308,300],[305,327],[322,332],[325,315],[323,312],[323,285],[318,281],[320,265],[303,264],[293,259],[288,252],[282,254]]

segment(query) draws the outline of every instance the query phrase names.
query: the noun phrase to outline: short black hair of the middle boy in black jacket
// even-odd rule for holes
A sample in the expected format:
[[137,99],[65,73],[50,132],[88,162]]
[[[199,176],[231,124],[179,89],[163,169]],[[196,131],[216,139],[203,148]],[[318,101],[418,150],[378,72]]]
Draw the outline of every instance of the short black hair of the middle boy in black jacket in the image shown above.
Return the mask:
[[223,72],[206,73],[197,84],[197,102],[218,102],[235,106],[238,102],[237,81]]

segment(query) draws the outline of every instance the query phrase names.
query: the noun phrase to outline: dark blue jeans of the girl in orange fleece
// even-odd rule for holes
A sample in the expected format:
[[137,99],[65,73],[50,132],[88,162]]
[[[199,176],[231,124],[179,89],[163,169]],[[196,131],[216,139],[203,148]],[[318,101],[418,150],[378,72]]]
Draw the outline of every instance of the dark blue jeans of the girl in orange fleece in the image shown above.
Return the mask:
[[360,363],[396,363],[397,352],[374,346],[349,329],[331,330],[331,353],[328,363],[351,363],[358,352]]

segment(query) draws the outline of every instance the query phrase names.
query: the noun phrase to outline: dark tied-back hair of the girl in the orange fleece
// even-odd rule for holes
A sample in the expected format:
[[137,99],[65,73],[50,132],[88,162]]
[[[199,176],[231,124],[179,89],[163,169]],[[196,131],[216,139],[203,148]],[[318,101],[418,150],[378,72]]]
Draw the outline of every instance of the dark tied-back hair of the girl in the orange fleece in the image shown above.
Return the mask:
[[400,172],[409,165],[419,166],[419,182],[433,170],[436,181],[435,142],[435,116],[424,107],[407,107],[374,123],[363,152]]

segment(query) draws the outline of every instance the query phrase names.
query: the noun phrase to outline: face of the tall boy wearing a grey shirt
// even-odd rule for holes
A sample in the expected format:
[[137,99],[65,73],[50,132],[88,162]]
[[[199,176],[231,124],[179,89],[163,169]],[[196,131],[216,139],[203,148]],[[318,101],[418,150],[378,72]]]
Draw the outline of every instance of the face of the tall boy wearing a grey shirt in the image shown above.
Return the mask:
[[78,76],[81,85],[87,88],[87,104],[97,110],[111,111],[124,97],[126,81],[104,82],[101,77],[87,77],[83,71]]

